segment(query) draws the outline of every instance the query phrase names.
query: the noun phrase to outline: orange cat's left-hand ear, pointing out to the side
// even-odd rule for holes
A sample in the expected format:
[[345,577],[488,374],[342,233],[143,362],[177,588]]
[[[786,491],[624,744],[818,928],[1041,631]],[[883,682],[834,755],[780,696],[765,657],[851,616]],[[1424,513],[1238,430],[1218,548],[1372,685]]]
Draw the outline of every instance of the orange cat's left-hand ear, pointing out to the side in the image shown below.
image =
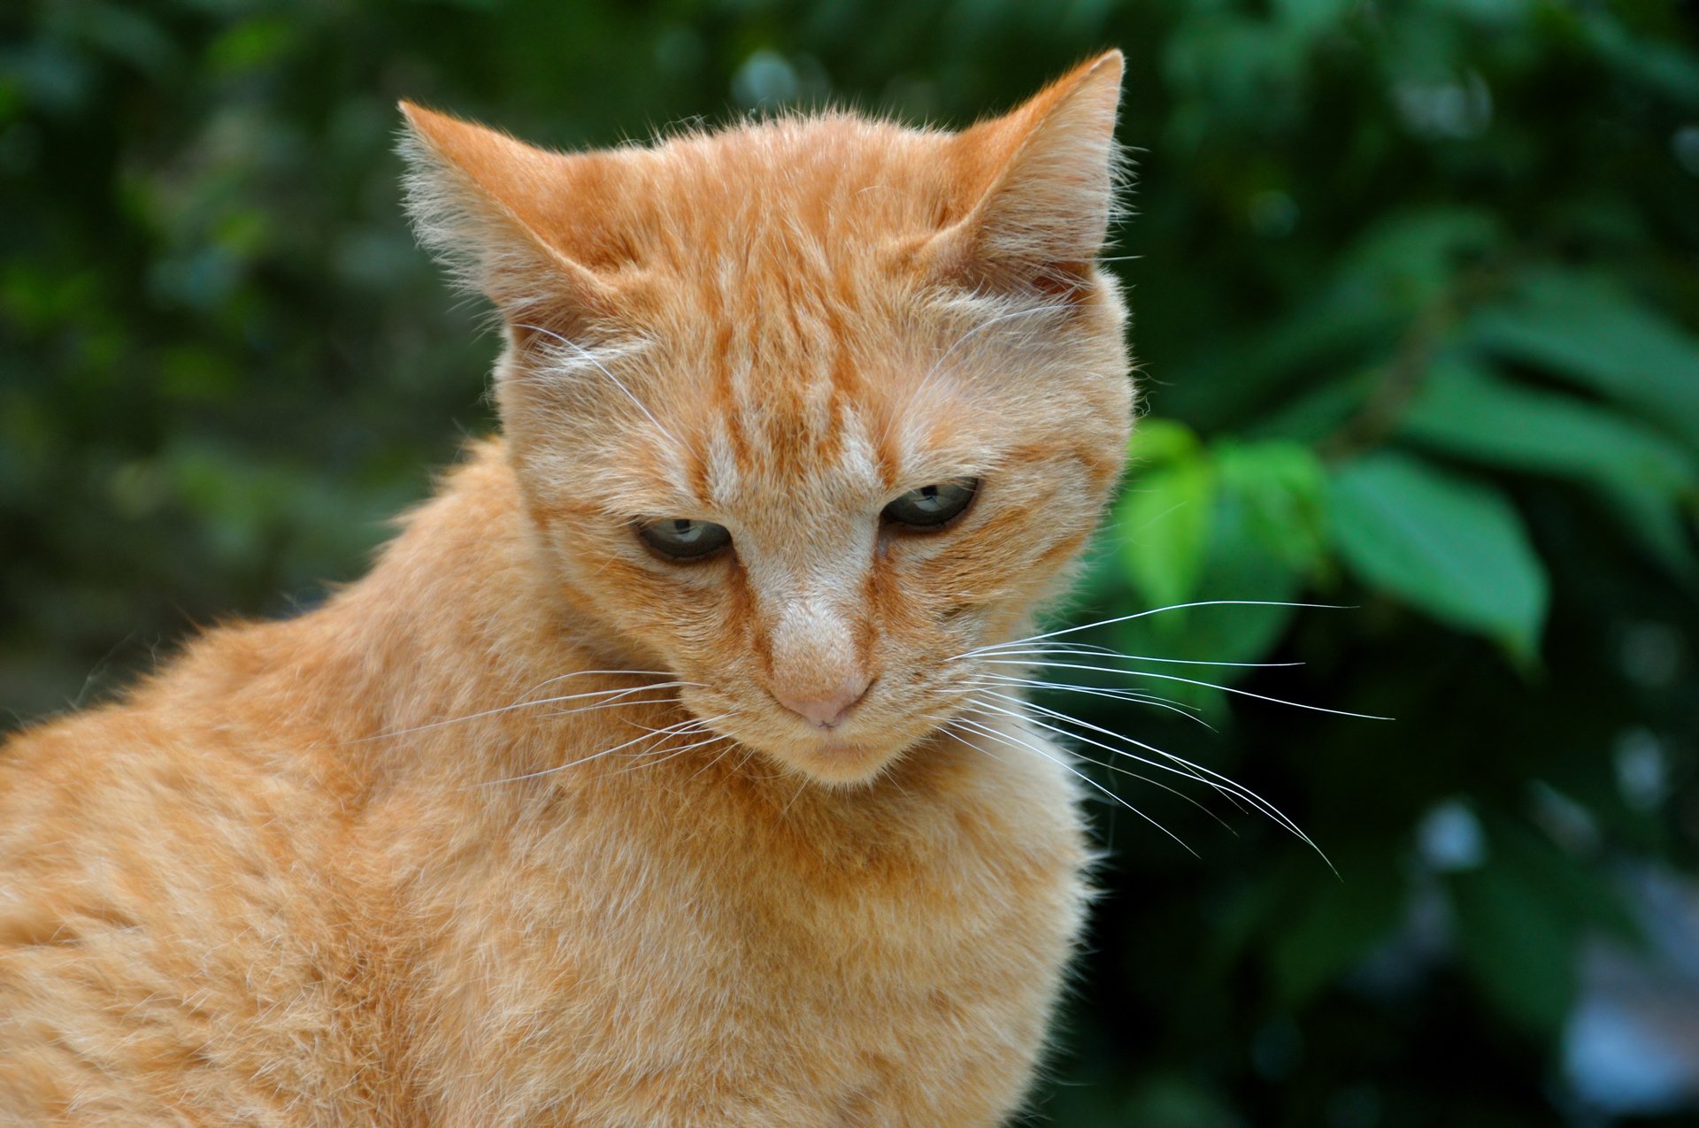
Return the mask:
[[510,324],[576,335],[613,316],[618,248],[603,155],[539,149],[401,102],[408,214],[420,243],[483,290]]

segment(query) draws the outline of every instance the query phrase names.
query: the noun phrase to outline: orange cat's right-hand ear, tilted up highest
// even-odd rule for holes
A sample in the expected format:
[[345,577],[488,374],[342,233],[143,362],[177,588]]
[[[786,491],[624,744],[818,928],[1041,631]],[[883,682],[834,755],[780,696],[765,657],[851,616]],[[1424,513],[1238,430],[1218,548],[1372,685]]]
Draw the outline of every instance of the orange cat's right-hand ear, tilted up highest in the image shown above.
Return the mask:
[[921,253],[933,274],[989,289],[1079,289],[1115,207],[1121,70],[1120,51],[1099,54],[951,141],[951,221]]

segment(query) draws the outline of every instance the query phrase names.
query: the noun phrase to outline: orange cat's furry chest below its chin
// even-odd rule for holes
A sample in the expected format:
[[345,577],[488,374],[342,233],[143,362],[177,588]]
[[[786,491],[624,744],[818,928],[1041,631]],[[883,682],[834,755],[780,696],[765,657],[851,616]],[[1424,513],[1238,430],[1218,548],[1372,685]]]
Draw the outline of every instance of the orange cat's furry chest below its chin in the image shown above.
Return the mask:
[[1082,916],[1060,780],[980,778],[890,832],[819,807],[569,814],[423,914],[418,1052],[460,1077],[445,1113],[992,1123],[1024,1084]]

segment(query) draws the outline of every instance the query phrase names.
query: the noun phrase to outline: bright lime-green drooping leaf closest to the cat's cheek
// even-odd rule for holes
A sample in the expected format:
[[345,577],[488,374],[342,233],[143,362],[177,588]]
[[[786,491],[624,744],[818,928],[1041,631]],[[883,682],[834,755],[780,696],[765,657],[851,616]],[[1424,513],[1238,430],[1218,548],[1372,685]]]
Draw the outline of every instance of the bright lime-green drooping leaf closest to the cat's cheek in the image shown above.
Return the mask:
[[1215,510],[1215,467],[1193,457],[1133,479],[1116,511],[1121,561],[1154,603],[1198,589]]

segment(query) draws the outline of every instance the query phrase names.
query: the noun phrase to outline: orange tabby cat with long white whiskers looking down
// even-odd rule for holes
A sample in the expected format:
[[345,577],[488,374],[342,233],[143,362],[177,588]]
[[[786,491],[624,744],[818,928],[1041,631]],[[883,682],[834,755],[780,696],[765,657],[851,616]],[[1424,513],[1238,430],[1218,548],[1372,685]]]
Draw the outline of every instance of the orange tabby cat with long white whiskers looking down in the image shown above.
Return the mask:
[[1018,1109],[1089,848],[957,719],[1121,469],[1120,75],[581,155],[404,105],[505,437],[321,610],[0,751],[0,1121]]

